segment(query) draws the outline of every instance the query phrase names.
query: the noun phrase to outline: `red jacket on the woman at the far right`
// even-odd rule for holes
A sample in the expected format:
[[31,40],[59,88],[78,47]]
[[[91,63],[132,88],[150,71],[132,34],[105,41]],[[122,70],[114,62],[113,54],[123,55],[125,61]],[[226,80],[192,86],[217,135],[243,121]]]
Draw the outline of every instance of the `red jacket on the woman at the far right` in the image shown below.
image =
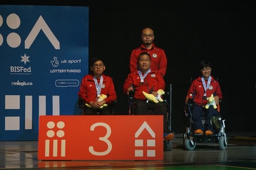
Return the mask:
[[[205,84],[207,84],[207,82],[208,80],[205,80]],[[187,95],[189,94],[193,95],[195,103],[199,105],[207,104],[207,100],[203,100],[204,86],[201,80],[201,76],[193,80]],[[222,99],[220,84],[217,82],[217,80],[213,78],[213,76],[212,76],[212,80],[210,81],[210,86],[207,89],[207,97],[210,97],[210,95],[212,94],[213,96],[218,96],[220,100]]]

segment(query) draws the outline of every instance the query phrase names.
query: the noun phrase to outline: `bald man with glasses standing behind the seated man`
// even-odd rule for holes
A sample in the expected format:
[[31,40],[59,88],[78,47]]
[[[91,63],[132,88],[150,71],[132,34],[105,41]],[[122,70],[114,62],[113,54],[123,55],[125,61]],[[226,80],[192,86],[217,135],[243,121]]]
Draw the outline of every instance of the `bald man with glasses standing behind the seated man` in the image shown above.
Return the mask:
[[154,31],[151,28],[144,28],[141,32],[142,45],[134,49],[130,56],[130,71],[133,73],[138,70],[138,57],[141,52],[147,52],[151,56],[151,69],[158,71],[163,77],[166,75],[167,57],[163,49],[154,44]]

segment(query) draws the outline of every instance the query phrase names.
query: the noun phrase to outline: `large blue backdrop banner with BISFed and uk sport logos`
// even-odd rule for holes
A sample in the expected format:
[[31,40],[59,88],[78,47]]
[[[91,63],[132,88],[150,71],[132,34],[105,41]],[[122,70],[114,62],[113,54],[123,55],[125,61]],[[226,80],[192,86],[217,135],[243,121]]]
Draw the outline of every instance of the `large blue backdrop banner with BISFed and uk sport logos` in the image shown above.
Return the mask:
[[0,6],[0,141],[37,141],[39,115],[79,115],[89,7]]

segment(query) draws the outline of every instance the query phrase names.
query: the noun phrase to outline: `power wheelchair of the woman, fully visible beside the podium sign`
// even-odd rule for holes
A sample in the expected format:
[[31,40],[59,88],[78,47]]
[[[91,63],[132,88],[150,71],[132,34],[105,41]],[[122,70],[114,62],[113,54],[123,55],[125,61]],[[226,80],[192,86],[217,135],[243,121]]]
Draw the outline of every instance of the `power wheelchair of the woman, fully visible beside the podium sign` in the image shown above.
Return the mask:
[[[221,101],[220,101],[221,103]],[[214,128],[214,133],[212,135],[205,134],[195,134],[193,131],[193,121],[192,121],[192,108],[193,101],[189,100],[185,106],[185,133],[183,134],[183,146],[186,150],[192,151],[195,149],[197,143],[218,143],[220,150],[226,150],[228,146],[228,139],[225,133],[225,120],[222,120],[220,115],[220,104],[217,106],[218,116],[213,116],[211,119],[211,124]],[[203,125],[205,123],[205,114],[201,114],[201,120]]]

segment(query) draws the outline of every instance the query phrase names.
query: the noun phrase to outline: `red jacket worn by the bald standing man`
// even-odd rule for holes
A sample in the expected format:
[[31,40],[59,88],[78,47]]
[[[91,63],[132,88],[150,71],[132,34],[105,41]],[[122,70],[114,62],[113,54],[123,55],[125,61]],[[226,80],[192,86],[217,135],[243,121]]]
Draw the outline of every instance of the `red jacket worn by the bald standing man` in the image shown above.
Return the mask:
[[160,49],[152,44],[151,49],[146,49],[142,44],[139,48],[134,49],[130,56],[130,71],[133,73],[137,70],[137,63],[139,54],[148,52],[151,56],[151,70],[158,71],[162,76],[166,75],[167,57],[163,49]]

